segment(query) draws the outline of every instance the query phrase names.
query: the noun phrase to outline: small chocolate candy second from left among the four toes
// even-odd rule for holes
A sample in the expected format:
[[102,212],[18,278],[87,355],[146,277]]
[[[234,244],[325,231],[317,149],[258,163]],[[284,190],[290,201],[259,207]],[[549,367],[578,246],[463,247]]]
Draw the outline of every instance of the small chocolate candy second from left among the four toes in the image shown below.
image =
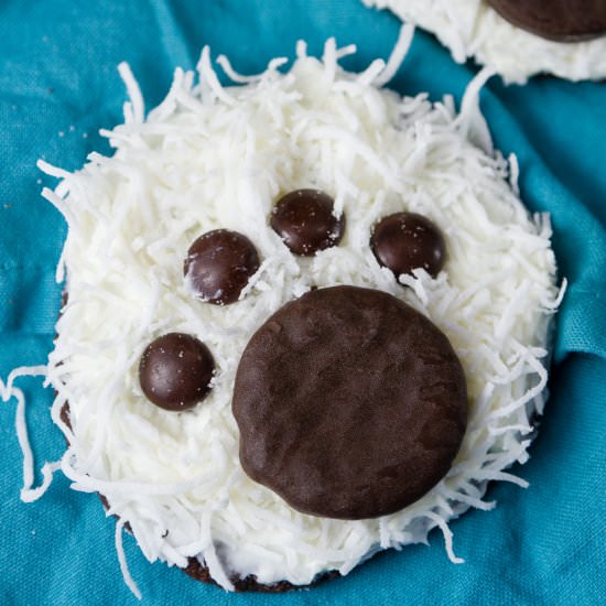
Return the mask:
[[196,296],[216,305],[238,301],[250,277],[259,269],[259,256],[242,234],[215,229],[201,236],[187,251],[185,279]]

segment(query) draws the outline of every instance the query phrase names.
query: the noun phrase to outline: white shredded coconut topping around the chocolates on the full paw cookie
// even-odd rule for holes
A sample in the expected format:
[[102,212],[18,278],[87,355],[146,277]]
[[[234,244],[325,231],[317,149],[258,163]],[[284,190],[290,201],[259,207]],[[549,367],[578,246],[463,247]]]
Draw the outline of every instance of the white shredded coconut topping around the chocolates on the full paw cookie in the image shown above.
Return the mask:
[[[548,328],[559,304],[547,215],[529,216],[508,182],[508,162],[491,147],[478,109],[490,73],[470,83],[457,113],[452,97],[400,97],[381,89],[412,37],[402,29],[392,59],[361,74],[338,61],[355,52],[325,45],[283,74],[272,61],[253,77],[217,63],[238,85],[223,87],[204,48],[193,72],[176,69],[164,101],[144,116],[127,65],[131,102],[125,123],[102,131],[116,149],[93,153],[75,173],[44,162],[61,178],[43,195],[64,215],[68,235],[57,270],[68,302],[56,325],[46,367],[18,369],[2,398],[19,400],[24,453],[23,499],[46,489],[61,470],[72,487],[100,493],[118,517],[116,544],[128,524],[145,558],[184,567],[195,556],[226,589],[230,578],[312,583],[324,571],[347,574],[375,552],[425,542],[440,528],[453,562],[447,522],[483,500],[488,480],[527,486],[505,469],[524,463],[531,420],[543,411]],[[516,164],[515,164],[516,165]],[[288,191],[332,193],[347,230],[338,247],[294,257],[268,226],[272,204]],[[399,210],[421,213],[441,227],[444,270],[399,281],[379,267],[371,227]],[[226,306],[192,296],[182,263],[191,242],[215,228],[247,235],[261,266],[241,300]],[[300,513],[242,472],[230,400],[235,371],[252,333],[313,285],[374,288],[404,300],[450,338],[468,381],[469,422],[446,477],[419,501],[379,519],[343,521]],[[216,372],[203,404],[184,413],[144,398],[138,364],[166,332],[197,336],[213,351]],[[56,391],[52,418],[69,446],[46,464],[32,488],[22,374],[44,374]],[[61,419],[68,402],[71,425]]]

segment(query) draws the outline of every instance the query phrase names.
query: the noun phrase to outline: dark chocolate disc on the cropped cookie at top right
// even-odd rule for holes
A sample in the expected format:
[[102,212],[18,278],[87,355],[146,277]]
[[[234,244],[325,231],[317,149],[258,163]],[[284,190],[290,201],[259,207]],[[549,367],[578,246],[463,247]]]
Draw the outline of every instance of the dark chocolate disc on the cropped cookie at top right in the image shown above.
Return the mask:
[[606,33],[606,0],[488,0],[509,22],[559,42]]

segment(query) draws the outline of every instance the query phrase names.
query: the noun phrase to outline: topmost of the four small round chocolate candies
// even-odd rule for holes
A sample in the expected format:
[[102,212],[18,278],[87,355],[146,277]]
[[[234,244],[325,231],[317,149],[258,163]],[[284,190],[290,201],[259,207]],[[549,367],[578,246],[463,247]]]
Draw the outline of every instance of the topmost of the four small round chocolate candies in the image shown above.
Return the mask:
[[271,227],[295,255],[311,257],[337,246],[345,217],[334,215],[333,198],[318,190],[295,190],[278,201]]

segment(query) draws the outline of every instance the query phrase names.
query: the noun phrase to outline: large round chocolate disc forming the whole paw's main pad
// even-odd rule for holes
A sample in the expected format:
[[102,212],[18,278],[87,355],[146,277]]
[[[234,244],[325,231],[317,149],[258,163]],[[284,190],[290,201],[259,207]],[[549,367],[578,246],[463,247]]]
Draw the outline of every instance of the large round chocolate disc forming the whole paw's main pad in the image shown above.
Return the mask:
[[234,388],[240,461],[315,516],[364,519],[414,502],[450,469],[466,383],[445,335],[380,291],[311,291],[248,343]]

